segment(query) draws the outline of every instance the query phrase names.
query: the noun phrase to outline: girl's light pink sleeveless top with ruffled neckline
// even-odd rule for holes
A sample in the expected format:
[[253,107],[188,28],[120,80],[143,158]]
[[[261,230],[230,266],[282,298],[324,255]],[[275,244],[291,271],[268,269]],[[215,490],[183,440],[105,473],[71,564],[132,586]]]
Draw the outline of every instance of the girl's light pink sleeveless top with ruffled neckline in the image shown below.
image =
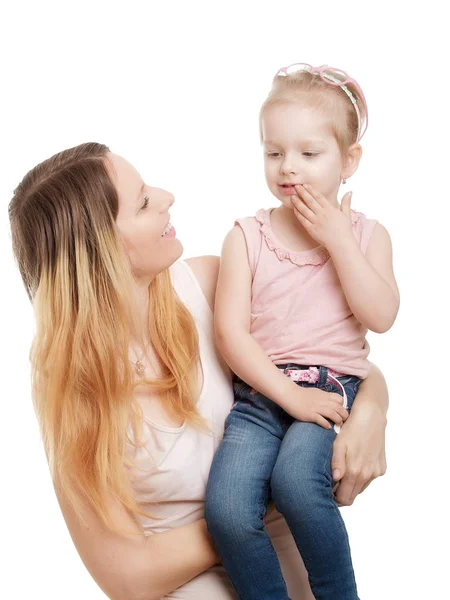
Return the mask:
[[[361,379],[369,372],[367,329],[353,315],[324,246],[295,252],[270,224],[273,209],[238,219],[253,275],[250,333],[275,364],[324,365]],[[377,223],[351,211],[365,253]]]

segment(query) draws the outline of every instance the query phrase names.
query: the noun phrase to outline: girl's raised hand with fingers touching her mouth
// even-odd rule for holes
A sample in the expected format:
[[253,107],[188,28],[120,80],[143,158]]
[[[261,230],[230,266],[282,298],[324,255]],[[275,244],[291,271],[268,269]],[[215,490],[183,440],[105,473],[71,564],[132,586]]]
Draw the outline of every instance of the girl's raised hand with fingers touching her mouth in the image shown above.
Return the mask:
[[307,183],[296,185],[295,191],[297,195],[291,196],[294,214],[319,244],[329,249],[336,241],[354,237],[350,213],[352,192],[347,192],[336,208]]

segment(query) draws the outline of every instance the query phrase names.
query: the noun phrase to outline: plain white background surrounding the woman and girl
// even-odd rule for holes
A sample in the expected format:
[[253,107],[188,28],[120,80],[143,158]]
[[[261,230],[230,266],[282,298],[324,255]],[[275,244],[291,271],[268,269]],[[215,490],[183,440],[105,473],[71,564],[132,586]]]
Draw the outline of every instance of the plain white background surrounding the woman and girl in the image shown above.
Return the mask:
[[450,128],[442,5],[93,0],[2,8],[2,597],[105,598],[65,527],[37,432],[28,369],[33,316],[10,249],[13,189],[55,152],[103,142],[150,185],[174,192],[172,223],[185,257],[219,254],[236,217],[276,205],[265,189],[257,115],[275,71],[298,61],[340,67],[365,92],[364,155],[345,189],[355,209],[390,231],[401,290],[394,327],[369,334],[390,389],[388,472],[342,509],[360,596],[448,597]]

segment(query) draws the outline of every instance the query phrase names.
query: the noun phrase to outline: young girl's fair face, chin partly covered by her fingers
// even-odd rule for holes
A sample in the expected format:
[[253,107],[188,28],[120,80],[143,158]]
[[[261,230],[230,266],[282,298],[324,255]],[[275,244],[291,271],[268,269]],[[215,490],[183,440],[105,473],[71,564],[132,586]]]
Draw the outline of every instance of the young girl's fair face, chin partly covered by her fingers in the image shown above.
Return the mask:
[[262,117],[264,170],[272,194],[292,208],[292,185],[309,183],[331,204],[343,178],[329,117],[298,102],[268,106]]

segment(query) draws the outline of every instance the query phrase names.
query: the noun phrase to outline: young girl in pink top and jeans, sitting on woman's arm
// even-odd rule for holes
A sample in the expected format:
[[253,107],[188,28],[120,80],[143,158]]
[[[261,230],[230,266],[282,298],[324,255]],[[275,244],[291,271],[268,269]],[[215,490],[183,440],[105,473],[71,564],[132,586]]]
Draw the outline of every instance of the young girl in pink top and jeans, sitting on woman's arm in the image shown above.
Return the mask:
[[[236,373],[206,520],[243,600],[286,600],[263,518],[284,515],[315,598],[358,598],[331,453],[370,368],[367,330],[393,324],[399,293],[386,229],[341,204],[367,105],[338,69],[280,69],[260,113],[266,181],[280,201],[238,219],[216,296],[218,347]],[[319,245],[318,245],[319,244]]]

